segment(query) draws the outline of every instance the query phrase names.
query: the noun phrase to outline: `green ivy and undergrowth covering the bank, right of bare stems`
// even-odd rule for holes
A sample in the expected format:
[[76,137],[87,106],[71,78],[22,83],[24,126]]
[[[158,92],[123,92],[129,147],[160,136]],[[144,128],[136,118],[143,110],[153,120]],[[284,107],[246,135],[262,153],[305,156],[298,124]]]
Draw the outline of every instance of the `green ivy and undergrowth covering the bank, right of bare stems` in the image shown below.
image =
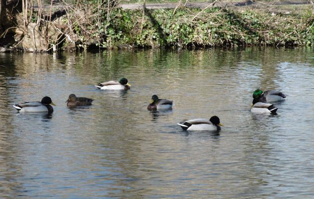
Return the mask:
[[313,45],[314,15],[228,8],[116,9],[101,47]]

